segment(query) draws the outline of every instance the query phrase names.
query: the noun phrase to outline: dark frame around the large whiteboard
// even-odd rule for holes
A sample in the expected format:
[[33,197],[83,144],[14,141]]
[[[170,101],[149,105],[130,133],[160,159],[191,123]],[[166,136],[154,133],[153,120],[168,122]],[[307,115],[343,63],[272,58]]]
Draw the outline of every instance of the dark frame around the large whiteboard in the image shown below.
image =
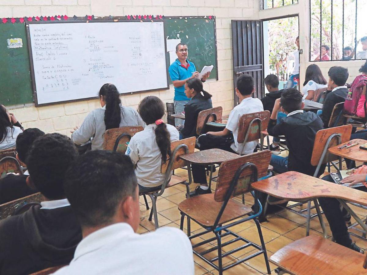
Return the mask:
[[[32,79],[32,88],[33,88],[33,99],[34,99],[34,105],[36,107],[39,106],[48,106],[48,105],[55,105],[55,104],[61,104],[61,103],[68,103],[68,102],[78,102],[83,100],[90,100],[90,99],[97,99],[99,98],[98,95],[92,96],[90,98],[79,98],[79,99],[72,99],[72,100],[63,100],[63,101],[57,101],[57,102],[48,102],[43,104],[38,104],[37,100],[37,90],[36,90],[36,81],[34,76],[34,66],[33,66],[33,54],[32,54],[32,45],[30,41],[30,32],[29,32],[29,25],[30,24],[60,24],[60,23],[106,23],[106,22],[163,22],[163,34],[164,34],[164,51],[167,52],[167,41],[166,41],[166,30],[164,28],[164,20],[163,19],[93,19],[93,20],[65,20],[65,21],[30,21],[25,22],[26,26],[26,34],[27,34],[27,43],[28,43],[28,52],[29,52],[29,63],[30,63],[30,73],[31,73],[31,79]],[[167,67],[167,58],[165,56],[164,62],[166,63]],[[143,92],[153,92],[153,91],[161,91],[161,90],[168,90],[170,89],[170,84],[168,82],[168,71],[166,73],[166,79],[167,79],[167,87],[158,88],[158,89],[150,89],[150,90],[142,90],[142,91],[135,91],[135,92],[127,92],[127,93],[121,93],[120,95],[132,95],[137,93],[143,93]]]

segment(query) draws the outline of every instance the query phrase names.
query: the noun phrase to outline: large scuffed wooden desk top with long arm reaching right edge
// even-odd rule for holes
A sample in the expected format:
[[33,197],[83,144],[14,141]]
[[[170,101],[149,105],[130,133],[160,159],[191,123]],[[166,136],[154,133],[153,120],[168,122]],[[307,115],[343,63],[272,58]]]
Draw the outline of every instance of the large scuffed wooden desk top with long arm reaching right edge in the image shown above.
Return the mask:
[[255,190],[290,201],[338,198],[367,206],[367,192],[289,171],[251,184]]

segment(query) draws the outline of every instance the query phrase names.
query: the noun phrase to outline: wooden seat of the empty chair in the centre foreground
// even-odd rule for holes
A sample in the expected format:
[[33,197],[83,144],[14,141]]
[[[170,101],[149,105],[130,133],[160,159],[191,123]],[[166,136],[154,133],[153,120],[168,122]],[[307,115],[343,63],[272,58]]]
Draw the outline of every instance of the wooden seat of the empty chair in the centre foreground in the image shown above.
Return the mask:
[[[185,199],[178,205],[178,209],[197,221],[203,227],[214,225],[223,202],[214,200],[214,194],[203,194]],[[237,219],[250,213],[252,209],[236,199],[230,199],[223,212],[219,224]]]

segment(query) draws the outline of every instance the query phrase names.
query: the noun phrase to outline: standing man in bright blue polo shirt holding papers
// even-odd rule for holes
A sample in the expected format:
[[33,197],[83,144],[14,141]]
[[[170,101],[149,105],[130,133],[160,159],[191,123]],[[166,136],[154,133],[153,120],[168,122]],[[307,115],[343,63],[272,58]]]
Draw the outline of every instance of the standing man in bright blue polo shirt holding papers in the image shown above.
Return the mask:
[[[188,48],[184,43],[179,43],[176,46],[177,59],[168,68],[173,86],[175,87],[174,108],[176,114],[181,114],[184,110],[185,104],[190,101],[185,95],[185,83],[190,78],[200,78],[200,73],[196,71],[194,63],[190,62],[188,57]],[[207,72],[201,78],[201,81],[205,82],[210,76],[210,72]],[[182,119],[175,118],[176,126],[183,126]]]

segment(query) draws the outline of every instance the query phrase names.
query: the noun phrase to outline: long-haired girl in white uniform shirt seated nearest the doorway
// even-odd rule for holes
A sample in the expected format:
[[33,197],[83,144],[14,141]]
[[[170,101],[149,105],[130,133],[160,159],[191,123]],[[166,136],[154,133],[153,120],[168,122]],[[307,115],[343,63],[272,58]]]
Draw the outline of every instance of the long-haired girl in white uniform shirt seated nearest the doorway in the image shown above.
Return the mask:
[[319,66],[312,64],[306,69],[305,82],[303,83],[303,99],[313,99],[317,89],[326,88],[327,81],[321,73]]

